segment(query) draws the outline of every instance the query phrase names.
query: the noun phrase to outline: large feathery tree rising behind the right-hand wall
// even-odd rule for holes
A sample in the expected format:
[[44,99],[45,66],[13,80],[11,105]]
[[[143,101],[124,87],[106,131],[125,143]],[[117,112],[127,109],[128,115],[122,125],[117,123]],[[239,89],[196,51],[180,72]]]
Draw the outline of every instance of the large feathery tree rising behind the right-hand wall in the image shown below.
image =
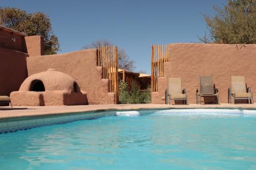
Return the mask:
[[209,35],[199,40],[204,43],[256,43],[256,0],[227,0],[223,8],[213,7],[216,14],[203,14]]

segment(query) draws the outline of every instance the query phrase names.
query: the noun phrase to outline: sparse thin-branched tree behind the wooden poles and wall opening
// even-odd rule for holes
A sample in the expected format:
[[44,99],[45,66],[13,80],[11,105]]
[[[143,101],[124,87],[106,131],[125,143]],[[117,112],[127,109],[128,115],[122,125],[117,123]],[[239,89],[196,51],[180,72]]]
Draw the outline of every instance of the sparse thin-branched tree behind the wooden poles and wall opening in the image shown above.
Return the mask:
[[[109,46],[113,44],[108,40],[99,39],[97,41],[93,41],[90,45],[83,46],[83,49],[98,48],[98,46],[103,45]],[[134,61],[131,60],[127,53],[120,48],[118,48],[118,67],[129,71],[133,71],[135,69]]]

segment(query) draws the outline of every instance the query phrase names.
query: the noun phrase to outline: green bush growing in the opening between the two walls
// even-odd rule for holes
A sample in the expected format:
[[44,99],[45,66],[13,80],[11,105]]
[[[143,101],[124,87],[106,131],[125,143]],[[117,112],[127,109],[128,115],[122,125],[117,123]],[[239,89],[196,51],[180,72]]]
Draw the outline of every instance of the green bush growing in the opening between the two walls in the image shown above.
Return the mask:
[[127,83],[120,81],[119,102],[121,104],[151,103],[151,89],[149,87],[147,91],[140,91],[136,82],[133,82],[131,89],[128,89]]

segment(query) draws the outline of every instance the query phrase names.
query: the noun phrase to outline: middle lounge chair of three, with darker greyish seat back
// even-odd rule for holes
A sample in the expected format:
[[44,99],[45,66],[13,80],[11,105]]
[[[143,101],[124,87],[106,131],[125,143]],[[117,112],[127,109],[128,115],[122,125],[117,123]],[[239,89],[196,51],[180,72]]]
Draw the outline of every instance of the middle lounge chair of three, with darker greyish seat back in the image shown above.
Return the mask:
[[[216,96],[216,103],[219,104],[219,89],[215,88],[213,76],[198,76],[199,89],[197,88],[197,104],[202,104],[201,97]],[[204,101],[205,102],[205,101]]]

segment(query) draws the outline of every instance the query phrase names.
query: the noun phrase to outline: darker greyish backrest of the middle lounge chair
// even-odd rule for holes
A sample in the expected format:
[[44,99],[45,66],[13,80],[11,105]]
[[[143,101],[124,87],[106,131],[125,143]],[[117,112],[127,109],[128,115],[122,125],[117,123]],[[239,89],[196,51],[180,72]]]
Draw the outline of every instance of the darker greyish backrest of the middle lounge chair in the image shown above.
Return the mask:
[[214,94],[213,76],[199,76],[200,94]]

